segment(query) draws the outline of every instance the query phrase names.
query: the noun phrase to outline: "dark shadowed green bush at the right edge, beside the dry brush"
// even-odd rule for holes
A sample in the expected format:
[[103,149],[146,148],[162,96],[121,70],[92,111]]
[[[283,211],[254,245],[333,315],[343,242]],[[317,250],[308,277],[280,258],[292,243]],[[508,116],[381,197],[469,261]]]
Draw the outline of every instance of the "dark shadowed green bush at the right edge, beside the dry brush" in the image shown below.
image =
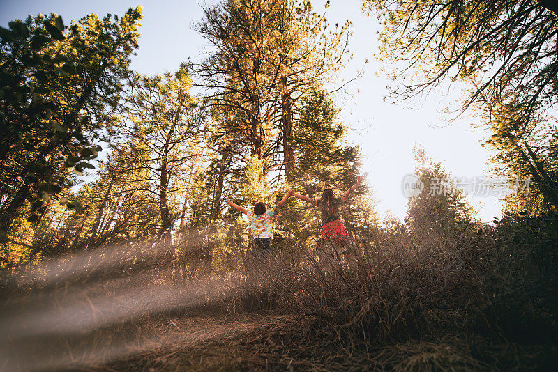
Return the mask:
[[[483,228],[478,311],[490,331],[518,342],[556,342],[558,323],[558,215],[504,213]],[[487,241],[488,240],[488,241]]]

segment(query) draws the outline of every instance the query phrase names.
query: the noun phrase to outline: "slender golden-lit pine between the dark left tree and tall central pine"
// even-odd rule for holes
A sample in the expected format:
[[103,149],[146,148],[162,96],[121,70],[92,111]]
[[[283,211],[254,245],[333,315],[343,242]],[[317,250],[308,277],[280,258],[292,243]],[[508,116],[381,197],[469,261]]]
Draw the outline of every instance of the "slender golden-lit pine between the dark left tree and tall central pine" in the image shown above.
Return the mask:
[[133,164],[142,172],[133,179],[153,190],[160,234],[169,232],[178,217],[179,201],[172,198],[183,189],[183,173],[199,162],[204,141],[205,111],[190,95],[191,86],[186,68],[174,75],[133,75],[126,95],[128,116],[121,118],[119,136],[132,144],[123,148],[121,171]]

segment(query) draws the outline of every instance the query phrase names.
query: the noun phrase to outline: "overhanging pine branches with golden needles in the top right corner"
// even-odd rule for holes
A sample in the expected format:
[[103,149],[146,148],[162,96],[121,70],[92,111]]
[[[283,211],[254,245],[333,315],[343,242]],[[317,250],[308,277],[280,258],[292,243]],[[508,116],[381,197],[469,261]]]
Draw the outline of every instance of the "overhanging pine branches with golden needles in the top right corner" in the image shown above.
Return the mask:
[[517,127],[556,102],[558,26],[550,1],[367,0],[363,8],[381,11],[382,58],[419,72],[399,80],[404,95],[446,78],[472,82],[466,106],[507,105],[519,115]]

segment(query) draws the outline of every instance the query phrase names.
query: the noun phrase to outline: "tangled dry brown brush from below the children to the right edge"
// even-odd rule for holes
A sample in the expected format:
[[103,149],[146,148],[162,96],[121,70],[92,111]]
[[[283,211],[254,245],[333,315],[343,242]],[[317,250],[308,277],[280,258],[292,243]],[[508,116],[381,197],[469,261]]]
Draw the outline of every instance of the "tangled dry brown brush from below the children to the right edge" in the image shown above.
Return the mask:
[[[456,350],[469,351],[446,357],[465,358],[463,364],[437,366],[436,355],[428,364],[428,355],[418,352],[414,367],[389,365],[475,370],[497,359],[511,368],[522,358],[511,356],[518,364],[510,365],[498,355],[510,357],[502,350],[530,342],[546,351],[536,358],[541,364],[529,368],[544,367],[558,362],[558,353],[552,357],[558,350],[558,239],[548,223],[507,219],[419,242],[404,229],[384,231],[353,239],[349,256],[300,249],[296,260],[272,261],[262,279],[282,307],[312,318],[306,334],[317,343],[308,339],[308,347],[324,355],[370,355],[400,343],[421,349],[418,340],[435,345],[457,337],[454,344],[462,345]],[[493,343],[501,349],[486,348]]]

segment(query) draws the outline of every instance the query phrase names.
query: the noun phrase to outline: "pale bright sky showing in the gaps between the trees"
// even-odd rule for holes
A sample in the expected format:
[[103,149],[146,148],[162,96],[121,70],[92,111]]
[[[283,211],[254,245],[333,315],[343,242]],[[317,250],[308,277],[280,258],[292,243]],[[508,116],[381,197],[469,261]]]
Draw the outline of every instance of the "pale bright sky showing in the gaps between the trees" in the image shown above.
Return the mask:
[[[89,13],[123,14],[128,8],[142,5],[143,20],[140,49],[133,58],[132,68],[146,75],[176,70],[188,58],[203,58],[204,40],[193,31],[192,22],[201,20],[204,1],[69,1],[69,0],[0,0],[0,25],[7,27],[10,20],[24,19],[28,14],[57,13],[65,24]],[[325,1],[313,0],[315,10],[322,13]],[[415,162],[414,144],[425,148],[433,160],[442,162],[452,176],[487,176],[489,153],[481,147],[485,134],[471,129],[472,118],[460,118],[448,123],[444,110],[459,100],[459,90],[437,91],[421,102],[392,104],[384,102],[389,80],[379,75],[381,63],[378,53],[375,17],[361,12],[359,0],[332,0],[326,13],[330,24],[351,20],[353,38],[349,43],[352,60],[338,77],[338,86],[361,70],[363,75],[348,84],[337,95],[342,107],[342,120],[351,127],[349,141],[362,148],[363,171],[368,171],[368,185],[375,193],[380,215],[386,212],[404,217],[407,199],[402,193],[402,179],[412,173]],[[365,63],[365,59],[369,63]],[[478,204],[479,217],[491,221],[500,214],[497,196],[471,196]],[[480,203],[480,204],[479,204]]]

